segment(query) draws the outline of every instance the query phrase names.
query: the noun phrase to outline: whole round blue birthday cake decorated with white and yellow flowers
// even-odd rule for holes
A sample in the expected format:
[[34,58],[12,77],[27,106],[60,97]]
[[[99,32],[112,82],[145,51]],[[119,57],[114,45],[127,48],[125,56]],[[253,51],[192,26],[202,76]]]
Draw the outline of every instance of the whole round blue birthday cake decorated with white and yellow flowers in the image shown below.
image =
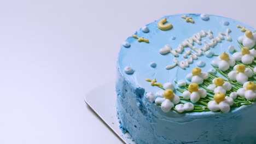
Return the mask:
[[136,143],[256,143],[256,32],[222,16],[164,16],[121,45],[120,128]]

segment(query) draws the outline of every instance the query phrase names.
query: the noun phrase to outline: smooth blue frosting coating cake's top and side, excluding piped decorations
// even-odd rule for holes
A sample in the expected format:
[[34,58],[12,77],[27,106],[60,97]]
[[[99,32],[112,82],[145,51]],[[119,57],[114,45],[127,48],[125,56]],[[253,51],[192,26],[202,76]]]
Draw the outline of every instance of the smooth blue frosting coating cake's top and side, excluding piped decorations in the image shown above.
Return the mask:
[[[226,28],[231,29],[232,41],[223,40],[211,51],[220,55],[228,51],[230,45],[237,45],[237,38],[243,35],[236,26],[241,25],[253,30],[245,23],[238,22],[226,17],[208,15],[209,20],[201,19],[200,14],[186,14],[191,16],[195,23],[185,22],[182,15],[171,15],[167,21],[172,23],[173,28],[162,31],[157,27],[158,21],[149,23],[147,27],[149,33],[137,31],[138,37],[149,39],[149,43],[139,43],[137,39],[129,37],[126,39],[131,44],[131,49],[121,46],[118,57],[118,81],[117,107],[119,118],[123,129],[129,131],[136,143],[256,143],[256,105],[241,106],[231,109],[229,113],[220,112],[191,112],[176,113],[174,111],[162,112],[161,107],[154,103],[149,103],[144,97],[147,92],[157,92],[160,89],[153,87],[144,79],[156,79],[158,82],[173,82],[183,80],[184,77],[196,67],[199,61],[211,62],[217,57],[208,58],[205,55],[194,60],[188,68],[182,69],[178,66],[172,69],[165,69],[166,65],[173,64],[174,56],[171,53],[161,55],[159,49],[166,44],[175,49],[183,40],[190,38],[193,34],[201,30],[213,32],[214,38],[219,32],[226,32]],[[162,17],[162,18],[164,18]],[[162,19],[161,18],[161,19]],[[223,21],[229,21],[229,26],[224,26]],[[171,40],[172,35],[177,35],[176,40]],[[203,40],[210,41],[207,37]],[[202,42],[203,43],[203,42]],[[196,47],[202,47],[197,45]],[[189,47],[185,48],[188,50]],[[184,60],[179,54],[178,61]],[[152,69],[148,67],[150,62],[155,62],[158,67]],[[133,75],[125,74],[124,68],[132,65],[136,69]],[[212,69],[211,64],[206,64],[202,71]],[[220,77],[222,75],[217,74]],[[176,86],[177,87],[177,86]],[[181,95],[180,92],[175,92]],[[136,125],[136,127],[135,127]]]

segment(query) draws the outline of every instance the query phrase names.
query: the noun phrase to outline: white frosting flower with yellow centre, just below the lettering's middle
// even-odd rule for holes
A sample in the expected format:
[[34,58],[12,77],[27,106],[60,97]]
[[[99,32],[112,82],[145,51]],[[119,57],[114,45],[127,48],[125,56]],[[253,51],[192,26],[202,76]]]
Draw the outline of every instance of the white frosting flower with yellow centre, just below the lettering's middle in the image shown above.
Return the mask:
[[188,74],[186,76],[187,80],[193,82],[193,83],[197,83],[198,85],[203,83],[203,80],[208,79],[209,74],[206,72],[201,72],[200,68],[193,68],[191,74]]

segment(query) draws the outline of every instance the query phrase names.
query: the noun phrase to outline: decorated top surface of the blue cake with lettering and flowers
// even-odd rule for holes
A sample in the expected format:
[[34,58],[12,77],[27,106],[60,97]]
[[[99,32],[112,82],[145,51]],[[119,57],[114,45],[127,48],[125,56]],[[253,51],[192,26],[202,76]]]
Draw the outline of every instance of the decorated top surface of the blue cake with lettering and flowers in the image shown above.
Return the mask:
[[[130,83],[136,87],[144,88],[146,93],[152,92],[147,94],[146,97],[149,98],[149,100],[150,97],[153,97],[154,100],[151,102],[157,105],[164,103],[163,98],[170,99],[174,104],[171,109],[177,112],[186,112],[186,110],[179,111],[179,106],[183,107],[185,103],[191,102],[193,105],[200,105],[200,100],[204,100],[209,96],[210,99],[208,99],[208,101],[203,101],[206,103],[206,109],[209,110],[208,106],[211,107],[210,101],[213,100],[214,103],[212,102],[212,105],[215,106],[223,101],[230,102],[231,100],[229,98],[232,92],[236,92],[232,94],[237,95],[238,89],[248,89],[246,88],[247,86],[243,86],[245,81],[255,83],[255,79],[252,78],[255,77],[256,73],[256,56],[254,56],[255,41],[256,34],[252,27],[226,17],[206,14],[164,16],[142,27],[124,41],[119,52],[118,69],[121,75],[125,76]],[[237,53],[240,54],[238,55]],[[245,57],[242,58],[244,55]],[[247,55],[253,57],[252,63],[250,64],[248,64],[248,61],[251,60],[243,61],[243,59],[248,59],[246,57]],[[229,74],[231,71],[236,70],[237,75],[240,69],[241,73],[239,73],[239,75],[245,71],[242,70],[242,66],[238,64],[245,64],[246,68],[248,68],[248,65],[253,75],[248,74],[247,80],[245,76],[241,78],[243,80],[240,80],[240,76],[238,76],[239,80],[234,80],[234,76]],[[238,67],[235,65],[238,65]],[[251,72],[249,71],[248,73]],[[227,77],[228,75],[230,75],[230,77]],[[236,77],[236,74],[233,75]],[[218,77],[223,78],[223,80]],[[154,79],[156,79],[156,81],[154,81]],[[236,83],[238,83],[238,85],[231,90],[225,87],[225,92],[223,92],[221,88],[220,90],[215,90],[214,88],[223,86],[223,81],[225,81],[225,83],[229,82],[231,87],[234,87]],[[184,84],[184,82],[186,84]],[[232,82],[234,84],[232,84]],[[156,85],[154,85],[154,83],[156,83]],[[198,88],[196,89],[196,84],[189,85],[190,83],[197,83]],[[246,85],[247,84],[248,83],[246,83]],[[252,84],[251,87],[254,87],[254,85]],[[193,90],[193,88],[195,90]],[[179,103],[175,104],[171,100],[171,97],[166,96],[168,95],[166,89],[171,89],[174,95],[180,97],[181,100]],[[195,92],[197,93],[198,89],[205,89],[209,95],[207,94],[205,97],[197,94],[201,98],[194,100],[192,98],[194,96],[191,96],[191,94],[193,92],[194,94]],[[256,98],[256,89],[251,89],[252,92],[255,92]],[[160,90],[162,90],[162,92]],[[169,92],[171,93],[171,91]],[[189,96],[184,94],[185,91],[190,92],[190,94],[187,94]],[[222,94],[216,94],[221,92],[224,93],[224,96]],[[240,97],[246,98],[245,95],[242,94],[238,95],[238,98]],[[182,99],[184,99],[184,101]],[[229,104],[231,107],[234,103],[237,104],[236,99],[233,98],[232,100],[232,103],[227,102],[226,104]],[[242,100],[246,101],[248,99]],[[254,98],[249,100],[252,101]],[[179,106],[176,107],[176,105]],[[170,106],[170,104],[168,106]],[[186,106],[188,105],[186,104]],[[203,109],[205,109],[205,107],[203,107]],[[169,108],[170,107],[166,109],[162,107],[162,110],[167,112],[170,111]],[[226,111],[221,108],[220,110],[216,109],[214,109],[214,111]],[[237,109],[231,110],[235,111]]]

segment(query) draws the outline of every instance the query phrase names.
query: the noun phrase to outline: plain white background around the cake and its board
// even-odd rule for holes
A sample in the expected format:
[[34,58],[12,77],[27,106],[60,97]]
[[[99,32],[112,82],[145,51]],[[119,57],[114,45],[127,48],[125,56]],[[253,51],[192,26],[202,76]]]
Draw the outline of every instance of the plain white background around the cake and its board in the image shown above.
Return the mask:
[[0,143],[121,143],[84,96],[115,79],[128,36],[181,13],[222,15],[256,27],[255,11],[253,0],[1,1]]

